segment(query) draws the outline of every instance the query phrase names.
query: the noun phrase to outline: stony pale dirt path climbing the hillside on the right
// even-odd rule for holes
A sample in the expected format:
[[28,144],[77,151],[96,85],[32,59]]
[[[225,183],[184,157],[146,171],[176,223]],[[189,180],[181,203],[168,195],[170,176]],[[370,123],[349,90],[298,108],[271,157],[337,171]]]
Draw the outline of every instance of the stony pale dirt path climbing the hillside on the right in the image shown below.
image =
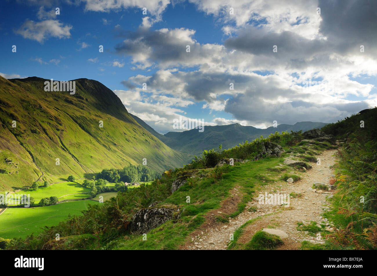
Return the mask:
[[[215,225],[210,226],[209,223],[205,223],[206,225],[201,230],[191,235],[191,242],[186,243],[181,249],[226,249],[231,234],[242,224],[253,218],[259,219],[244,228],[242,236],[237,241],[238,243],[247,243],[255,232],[263,228],[274,228],[288,234],[288,238],[284,239],[284,245],[278,248],[281,250],[297,249],[303,239],[310,239],[314,242],[316,237],[309,236],[307,235],[308,233],[296,229],[297,222],[316,221],[316,223],[320,223],[323,221],[321,213],[325,212],[326,209],[330,209],[326,196],[329,196],[331,192],[326,191],[321,193],[321,191],[317,193],[313,192],[311,187],[316,181],[329,183],[331,174],[333,174],[333,169],[329,168],[329,166],[335,163],[336,159],[333,155],[336,151],[333,149],[322,152],[322,155],[317,156],[321,159],[321,165],[313,163],[313,168],[303,173],[300,181],[292,184],[285,182],[286,184],[283,184],[284,191],[277,190],[276,184],[265,186],[264,190],[267,192],[276,190],[276,193],[280,192],[282,194],[290,194],[291,192],[300,193],[301,197],[290,198],[290,207],[249,202],[245,211],[238,215],[238,217],[230,219],[230,223],[228,224],[215,223]],[[282,185],[278,186],[281,187]],[[256,212],[248,212],[248,208],[253,205],[258,207],[258,210]],[[216,211],[214,210],[212,215]]]

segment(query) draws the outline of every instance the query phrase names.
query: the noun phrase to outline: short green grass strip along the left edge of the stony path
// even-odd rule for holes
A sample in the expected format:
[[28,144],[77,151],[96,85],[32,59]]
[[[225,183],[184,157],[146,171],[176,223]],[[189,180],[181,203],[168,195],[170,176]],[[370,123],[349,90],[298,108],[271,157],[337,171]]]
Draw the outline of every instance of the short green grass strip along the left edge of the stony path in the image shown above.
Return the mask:
[[[187,236],[204,223],[204,216],[211,210],[218,209],[221,201],[228,198],[230,190],[237,186],[237,194],[242,194],[242,200],[235,212],[229,217],[236,217],[245,210],[246,203],[255,197],[254,188],[262,188],[265,183],[259,176],[267,168],[282,162],[279,158],[265,158],[256,162],[246,162],[230,166],[229,172],[222,175],[222,179],[215,181],[213,178],[199,180],[195,186],[183,185],[166,200],[162,205],[176,205],[184,208],[181,217],[173,223],[168,221],[147,234],[147,241],[141,235],[130,235],[129,238],[120,240],[114,249],[178,249],[183,245]],[[271,179],[278,178],[278,172],[271,172]],[[233,190],[233,192],[235,192]],[[190,203],[186,197],[190,197]],[[218,217],[224,221],[225,217]],[[228,220],[227,220],[228,221]],[[173,238],[172,238],[173,237]]]

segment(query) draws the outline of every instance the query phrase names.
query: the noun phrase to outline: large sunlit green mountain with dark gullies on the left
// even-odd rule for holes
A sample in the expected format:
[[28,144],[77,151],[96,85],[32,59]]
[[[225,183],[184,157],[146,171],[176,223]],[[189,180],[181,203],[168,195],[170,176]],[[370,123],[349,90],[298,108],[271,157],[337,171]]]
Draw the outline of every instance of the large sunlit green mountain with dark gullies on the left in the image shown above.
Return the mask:
[[70,95],[44,91],[45,81],[0,76],[0,191],[37,179],[58,181],[139,165],[144,158],[159,172],[188,162],[187,154],[136,122],[100,82],[75,79],[76,91]]

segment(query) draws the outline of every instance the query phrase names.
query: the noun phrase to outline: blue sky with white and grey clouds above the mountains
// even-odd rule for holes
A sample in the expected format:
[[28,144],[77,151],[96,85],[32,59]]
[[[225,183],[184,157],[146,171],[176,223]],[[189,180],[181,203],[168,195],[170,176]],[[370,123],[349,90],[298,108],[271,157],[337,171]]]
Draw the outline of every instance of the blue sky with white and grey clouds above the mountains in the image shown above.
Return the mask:
[[2,0],[0,18],[0,75],[97,80],[162,134],[377,106],[375,0]]

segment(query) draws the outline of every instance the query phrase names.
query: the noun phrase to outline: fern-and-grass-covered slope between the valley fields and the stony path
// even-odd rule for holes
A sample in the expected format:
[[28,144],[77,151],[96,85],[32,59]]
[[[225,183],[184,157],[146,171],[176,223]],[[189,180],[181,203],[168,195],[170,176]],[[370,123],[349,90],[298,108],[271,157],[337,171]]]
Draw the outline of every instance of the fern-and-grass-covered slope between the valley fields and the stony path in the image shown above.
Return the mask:
[[[292,135],[284,134],[273,138],[284,145],[291,140],[289,138],[293,138],[290,136]],[[254,149],[261,142],[262,139],[258,139],[242,148],[234,148],[229,154],[243,153],[251,159],[256,154]],[[255,162],[235,162],[234,166],[190,169],[198,167],[195,163],[200,165],[200,161],[194,161],[185,168],[165,172],[160,180],[155,180],[150,185],[118,192],[116,199],[89,207],[88,211],[79,217],[72,217],[58,226],[46,227],[26,240],[14,240],[9,243],[9,249],[178,249],[190,233],[204,224],[211,213],[216,214],[213,223],[228,221],[228,218],[234,218],[243,212],[247,203],[256,197],[265,185],[274,183],[281,191],[282,185],[287,183],[285,178],[282,178],[284,172],[295,171],[299,174],[302,171],[302,168],[280,165],[284,163],[285,157],[293,154],[297,158],[299,153],[314,154],[333,146],[328,142],[316,142],[302,146],[287,145],[284,148],[290,150],[280,157],[266,157]],[[222,155],[228,155],[226,152],[224,154]],[[315,159],[312,162],[315,162]],[[172,183],[177,179],[184,180],[185,183],[172,194]],[[237,190],[236,195],[233,189]],[[190,197],[190,202],[187,202],[187,196]],[[156,206],[179,208],[182,213],[180,217],[175,217],[148,232],[148,238],[144,241],[140,235],[130,233],[128,227],[137,210],[156,201],[160,201]],[[219,208],[223,208],[221,212],[217,212],[220,211]],[[284,209],[283,206],[280,208]],[[109,216],[109,213],[112,215]],[[61,233],[61,241],[56,242],[51,238],[54,237],[52,233]]]

